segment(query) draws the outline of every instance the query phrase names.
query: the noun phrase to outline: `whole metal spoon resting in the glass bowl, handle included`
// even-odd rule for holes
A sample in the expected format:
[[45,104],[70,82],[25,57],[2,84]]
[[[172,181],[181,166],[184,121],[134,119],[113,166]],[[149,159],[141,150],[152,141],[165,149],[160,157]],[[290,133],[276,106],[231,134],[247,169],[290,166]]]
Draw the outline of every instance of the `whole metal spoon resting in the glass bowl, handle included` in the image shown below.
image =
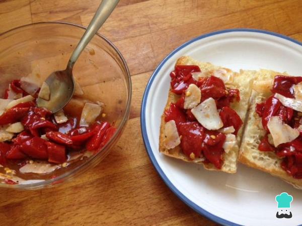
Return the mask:
[[63,71],[55,71],[51,73],[45,80],[45,82],[49,86],[50,98],[49,100],[44,100],[38,97],[38,107],[45,107],[55,113],[62,109],[69,102],[74,92],[72,67],[75,61],[78,60],[80,54],[85,49],[87,44],[110,16],[118,2],[119,0],[102,1],[86,32],[71,54],[66,69]]

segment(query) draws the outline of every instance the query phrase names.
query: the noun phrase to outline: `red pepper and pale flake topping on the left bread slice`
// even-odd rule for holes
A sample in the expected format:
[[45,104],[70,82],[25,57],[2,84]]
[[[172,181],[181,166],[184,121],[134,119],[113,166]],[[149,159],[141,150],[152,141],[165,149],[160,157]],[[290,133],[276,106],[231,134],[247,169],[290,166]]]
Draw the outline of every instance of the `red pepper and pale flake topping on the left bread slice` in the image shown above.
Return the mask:
[[202,159],[221,169],[222,154],[234,147],[243,124],[230,106],[240,101],[240,92],[224,84],[233,80],[233,72],[217,69],[203,73],[196,65],[177,65],[170,76],[171,91],[178,95],[165,110],[166,125],[173,121],[178,132],[171,140],[178,141],[179,135],[181,150],[188,159]]

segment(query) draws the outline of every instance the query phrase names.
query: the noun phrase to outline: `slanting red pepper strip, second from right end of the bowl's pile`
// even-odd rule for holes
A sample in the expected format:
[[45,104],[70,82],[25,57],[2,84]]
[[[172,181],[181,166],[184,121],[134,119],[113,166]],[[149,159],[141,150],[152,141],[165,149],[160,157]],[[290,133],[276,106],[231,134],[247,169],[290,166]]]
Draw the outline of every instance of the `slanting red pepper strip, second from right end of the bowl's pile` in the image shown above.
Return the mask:
[[101,124],[97,124],[95,126],[95,131],[97,131],[97,133],[92,136],[86,143],[86,148],[87,150],[96,150],[100,147],[103,138],[106,134],[106,130],[110,127],[110,124],[105,122],[105,123],[101,123]]

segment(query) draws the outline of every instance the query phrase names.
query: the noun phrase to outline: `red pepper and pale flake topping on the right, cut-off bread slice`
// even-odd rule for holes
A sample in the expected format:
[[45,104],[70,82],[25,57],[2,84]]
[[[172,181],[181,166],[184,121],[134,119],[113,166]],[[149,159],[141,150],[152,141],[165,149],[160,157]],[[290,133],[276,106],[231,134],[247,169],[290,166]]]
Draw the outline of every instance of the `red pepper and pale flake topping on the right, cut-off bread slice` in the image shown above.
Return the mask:
[[297,179],[302,179],[301,82],[302,77],[277,75],[271,90],[274,94],[256,104],[267,132],[258,149],[282,158],[281,167]]

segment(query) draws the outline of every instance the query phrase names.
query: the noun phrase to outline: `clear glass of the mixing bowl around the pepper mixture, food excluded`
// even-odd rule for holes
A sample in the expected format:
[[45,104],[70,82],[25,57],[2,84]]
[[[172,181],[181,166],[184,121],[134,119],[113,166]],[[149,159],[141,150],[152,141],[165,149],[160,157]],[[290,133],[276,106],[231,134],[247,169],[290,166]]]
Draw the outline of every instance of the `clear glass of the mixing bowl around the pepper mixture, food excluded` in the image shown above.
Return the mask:
[[[53,71],[65,69],[84,32],[85,28],[79,25],[49,22],[25,25],[1,34],[0,97],[3,98],[5,89],[14,79],[30,73],[44,79]],[[96,34],[75,63],[73,75],[84,91],[82,99],[105,103],[104,120],[115,124],[116,133],[96,154],[56,170],[55,177],[32,175],[33,179],[44,181],[16,185],[0,183],[0,187],[35,189],[64,182],[98,164],[119,139],[129,117],[131,102],[131,78],[121,53],[104,36]],[[64,109],[79,116],[82,107],[83,101],[77,99]],[[20,174],[17,176],[21,177]]]

